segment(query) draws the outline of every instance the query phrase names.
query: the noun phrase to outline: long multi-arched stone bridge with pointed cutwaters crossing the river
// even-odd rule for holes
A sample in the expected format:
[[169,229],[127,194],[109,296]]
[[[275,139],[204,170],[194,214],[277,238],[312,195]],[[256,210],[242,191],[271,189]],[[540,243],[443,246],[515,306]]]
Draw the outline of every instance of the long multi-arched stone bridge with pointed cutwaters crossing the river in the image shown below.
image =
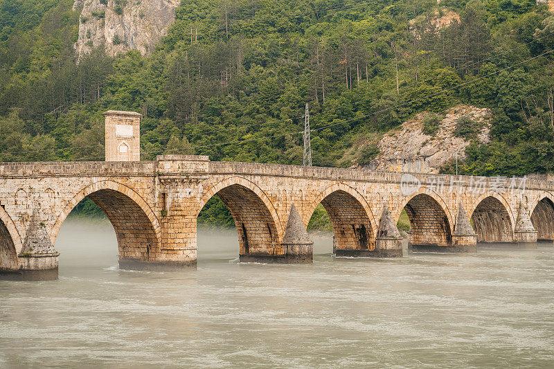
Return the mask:
[[156,161],[0,163],[0,270],[51,271],[64,219],[84,197],[113,224],[124,267],[196,264],[197,216],[214,195],[231,211],[241,260],[310,262],[305,234],[323,204],[337,255],[401,256],[413,249],[474,251],[476,242],[554,240],[554,184],[294,165]]

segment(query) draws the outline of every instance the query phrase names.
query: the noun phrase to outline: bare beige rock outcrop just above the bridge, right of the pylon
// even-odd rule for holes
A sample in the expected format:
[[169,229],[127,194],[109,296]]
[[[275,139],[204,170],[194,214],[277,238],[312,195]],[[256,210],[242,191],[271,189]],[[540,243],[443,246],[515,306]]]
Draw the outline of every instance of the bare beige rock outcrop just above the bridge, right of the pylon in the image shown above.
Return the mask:
[[[402,172],[438,172],[446,161],[456,157],[463,159],[465,147],[472,139],[481,143],[490,141],[490,109],[481,109],[467,105],[453,107],[438,117],[434,134],[424,132],[424,121],[429,116],[423,112],[402,124],[400,129],[391,131],[379,142],[378,156],[367,166],[374,170],[393,170]],[[457,136],[456,126],[461,118],[473,122],[472,138]],[[458,125],[459,127],[459,125]]]

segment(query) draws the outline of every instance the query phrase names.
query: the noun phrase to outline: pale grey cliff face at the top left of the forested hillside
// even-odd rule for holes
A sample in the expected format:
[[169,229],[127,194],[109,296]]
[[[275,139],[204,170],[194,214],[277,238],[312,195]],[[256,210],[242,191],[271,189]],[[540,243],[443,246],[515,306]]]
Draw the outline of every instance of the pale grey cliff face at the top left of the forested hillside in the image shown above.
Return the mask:
[[175,8],[180,2],[75,0],[73,10],[81,9],[79,38],[75,44],[78,57],[100,45],[104,45],[111,56],[131,49],[150,53],[175,20]]

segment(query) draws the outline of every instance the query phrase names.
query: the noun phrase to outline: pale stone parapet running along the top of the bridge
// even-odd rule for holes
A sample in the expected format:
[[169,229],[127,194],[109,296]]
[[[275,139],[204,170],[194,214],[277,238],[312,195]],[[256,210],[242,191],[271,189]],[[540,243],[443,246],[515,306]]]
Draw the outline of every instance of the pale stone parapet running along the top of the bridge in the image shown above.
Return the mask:
[[44,177],[57,175],[109,175],[109,174],[248,174],[305,179],[332,179],[339,181],[367,181],[379,183],[403,183],[416,181],[421,186],[447,188],[521,188],[554,190],[552,176],[530,177],[476,177],[451,174],[376,172],[350,168],[301,167],[298,165],[240,163],[210,161],[201,155],[160,155],[156,161],[51,161],[0,163],[0,177]]

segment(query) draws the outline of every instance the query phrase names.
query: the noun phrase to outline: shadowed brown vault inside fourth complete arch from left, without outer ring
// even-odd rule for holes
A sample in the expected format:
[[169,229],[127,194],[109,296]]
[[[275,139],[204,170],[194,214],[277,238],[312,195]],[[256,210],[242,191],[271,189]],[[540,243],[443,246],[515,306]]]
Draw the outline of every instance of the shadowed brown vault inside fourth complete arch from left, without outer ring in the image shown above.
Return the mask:
[[404,211],[409,221],[412,246],[452,245],[450,222],[436,199],[425,194],[415,195],[404,206]]

